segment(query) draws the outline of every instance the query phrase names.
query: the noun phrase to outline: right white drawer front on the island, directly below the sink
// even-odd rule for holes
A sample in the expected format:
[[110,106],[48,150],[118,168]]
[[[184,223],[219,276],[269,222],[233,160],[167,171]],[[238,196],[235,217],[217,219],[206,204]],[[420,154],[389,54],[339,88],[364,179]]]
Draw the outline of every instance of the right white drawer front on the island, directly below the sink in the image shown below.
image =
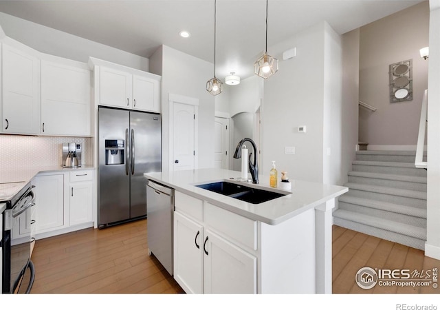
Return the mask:
[[257,249],[256,220],[250,220],[210,203],[205,205],[205,223],[250,249]]

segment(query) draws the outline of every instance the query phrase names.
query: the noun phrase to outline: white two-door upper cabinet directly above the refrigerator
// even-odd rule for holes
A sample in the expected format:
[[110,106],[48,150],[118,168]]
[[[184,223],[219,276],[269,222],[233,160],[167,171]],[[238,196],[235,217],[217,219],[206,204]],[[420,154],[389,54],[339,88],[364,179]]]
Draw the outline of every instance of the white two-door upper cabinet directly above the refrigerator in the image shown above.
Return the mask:
[[161,76],[90,58],[95,72],[96,105],[160,112]]

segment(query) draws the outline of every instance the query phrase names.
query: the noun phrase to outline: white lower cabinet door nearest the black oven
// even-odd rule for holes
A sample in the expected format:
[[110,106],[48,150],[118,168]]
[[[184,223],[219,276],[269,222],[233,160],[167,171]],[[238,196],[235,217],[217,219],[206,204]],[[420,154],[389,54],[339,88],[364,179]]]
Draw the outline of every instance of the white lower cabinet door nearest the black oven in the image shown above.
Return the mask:
[[36,233],[65,227],[64,175],[35,176]]

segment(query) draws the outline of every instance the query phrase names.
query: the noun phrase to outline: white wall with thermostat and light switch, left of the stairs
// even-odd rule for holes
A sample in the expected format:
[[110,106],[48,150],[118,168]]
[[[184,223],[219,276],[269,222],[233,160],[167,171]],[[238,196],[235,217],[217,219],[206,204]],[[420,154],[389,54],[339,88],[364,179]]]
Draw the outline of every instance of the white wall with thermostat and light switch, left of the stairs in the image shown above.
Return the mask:
[[[323,97],[324,97],[324,23],[300,32],[271,47],[268,53],[296,47],[297,56],[279,59],[279,70],[264,83],[263,153],[261,173],[268,174],[272,161],[289,178],[323,180]],[[306,125],[307,133],[298,133]],[[285,154],[285,147],[296,154]]]

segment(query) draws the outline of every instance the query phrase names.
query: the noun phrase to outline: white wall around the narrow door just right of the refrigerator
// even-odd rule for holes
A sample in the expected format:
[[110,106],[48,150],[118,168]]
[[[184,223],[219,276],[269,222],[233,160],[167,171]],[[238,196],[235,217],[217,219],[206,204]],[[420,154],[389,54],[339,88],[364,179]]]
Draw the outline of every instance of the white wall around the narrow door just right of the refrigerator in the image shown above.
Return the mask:
[[162,169],[166,171],[170,161],[168,94],[199,99],[198,167],[214,167],[214,96],[206,92],[206,81],[212,79],[213,64],[166,45],[156,53],[159,56],[154,54],[151,57],[151,67],[160,70],[162,65]]

